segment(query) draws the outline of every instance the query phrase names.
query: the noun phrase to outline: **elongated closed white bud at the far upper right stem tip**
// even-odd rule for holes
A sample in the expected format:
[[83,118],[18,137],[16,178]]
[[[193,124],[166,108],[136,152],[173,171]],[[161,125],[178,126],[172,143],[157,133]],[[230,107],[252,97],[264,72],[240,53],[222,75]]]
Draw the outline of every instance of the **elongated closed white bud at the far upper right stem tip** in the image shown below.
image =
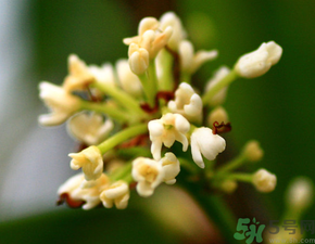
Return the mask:
[[274,41],[263,42],[261,47],[248,54],[242,55],[235,70],[244,78],[255,78],[264,75],[269,68],[277,64],[282,55],[282,48]]

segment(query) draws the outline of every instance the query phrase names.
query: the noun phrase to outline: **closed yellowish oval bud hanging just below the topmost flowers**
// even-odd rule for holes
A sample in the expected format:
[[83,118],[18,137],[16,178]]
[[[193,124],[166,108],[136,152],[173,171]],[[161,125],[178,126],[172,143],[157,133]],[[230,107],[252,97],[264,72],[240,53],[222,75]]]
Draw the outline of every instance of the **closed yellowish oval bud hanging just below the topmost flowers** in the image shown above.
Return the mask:
[[142,75],[149,67],[149,52],[136,43],[129,46],[129,66],[136,75]]

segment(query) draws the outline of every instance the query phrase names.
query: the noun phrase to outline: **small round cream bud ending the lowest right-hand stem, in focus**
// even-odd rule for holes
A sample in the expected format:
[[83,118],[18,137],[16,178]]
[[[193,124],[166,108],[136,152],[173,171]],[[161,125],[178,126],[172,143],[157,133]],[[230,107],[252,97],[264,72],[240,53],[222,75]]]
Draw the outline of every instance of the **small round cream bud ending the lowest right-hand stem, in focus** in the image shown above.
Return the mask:
[[272,192],[276,188],[277,177],[266,169],[259,169],[254,174],[252,182],[260,192]]

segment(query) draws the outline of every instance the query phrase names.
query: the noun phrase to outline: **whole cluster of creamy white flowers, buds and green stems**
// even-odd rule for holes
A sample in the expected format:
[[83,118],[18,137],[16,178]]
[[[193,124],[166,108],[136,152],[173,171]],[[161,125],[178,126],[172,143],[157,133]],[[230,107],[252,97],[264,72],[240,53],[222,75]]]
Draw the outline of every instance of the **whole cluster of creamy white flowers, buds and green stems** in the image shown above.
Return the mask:
[[150,196],[161,183],[174,184],[181,169],[227,193],[235,191],[238,181],[261,192],[275,189],[276,176],[265,169],[234,171],[262,158],[256,141],[223,166],[214,168],[214,164],[227,146],[222,133],[231,129],[223,107],[228,86],[239,77],[265,74],[281,56],[277,43],[263,43],[241,56],[234,68],[219,67],[203,92],[193,87],[191,76],[217,51],[196,52],[175,13],[143,18],[138,35],[124,43],[129,47],[128,60],[115,66],[87,65],[72,54],[61,86],[39,85],[40,98],[51,110],[39,117],[39,124],[67,121],[68,133],[81,145],[81,151],[68,154],[71,168],[81,172],[60,187],[59,203],[123,209],[130,190]]

